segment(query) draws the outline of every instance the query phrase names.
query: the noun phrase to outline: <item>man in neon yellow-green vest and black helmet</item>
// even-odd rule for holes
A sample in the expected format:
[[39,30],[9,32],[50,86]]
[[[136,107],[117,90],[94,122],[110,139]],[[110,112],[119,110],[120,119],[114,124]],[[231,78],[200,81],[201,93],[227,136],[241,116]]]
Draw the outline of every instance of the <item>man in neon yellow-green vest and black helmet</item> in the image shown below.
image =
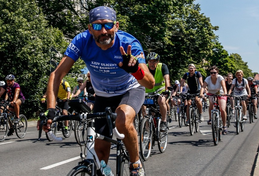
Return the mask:
[[[146,93],[153,95],[154,92],[163,93],[168,95],[167,87],[170,86],[169,80],[169,70],[167,65],[163,63],[159,63],[160,56],[154,52],[149,53],[147,55],[147,67],[150,73],[155,78],[155,86],[153,89],[146,88]],[[167,106],[166,100],[169,100],[170,96],[168,95],[167,98],[164,96],[159,96],[157,99],[157,103],[159,104],[159,110],[162,117],[161,122],[161,131],[167,130],[167,123],[166,123],[166,111],[167,108],[169,109],[169,104]],[[145,112],[145,111],[144,111]]]

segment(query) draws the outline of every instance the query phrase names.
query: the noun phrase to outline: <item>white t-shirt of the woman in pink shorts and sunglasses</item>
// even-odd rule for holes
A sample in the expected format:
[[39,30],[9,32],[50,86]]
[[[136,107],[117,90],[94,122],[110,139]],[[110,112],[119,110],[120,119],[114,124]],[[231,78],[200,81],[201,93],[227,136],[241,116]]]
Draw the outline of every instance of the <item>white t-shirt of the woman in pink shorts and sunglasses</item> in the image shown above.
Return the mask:
[[217,78],[217,81],[216,81],[216,84],[213,84],[211,82],[211,76],[208,76],[204,82],[206,82],[208,84],[208,93],[212,93],[212,94],[221,94],[221,93],[224,93],[223,91],[223,88],[221,86],[221,81],[222,80],[225,80],[223,78],[223,76],[221,75],[218,75],[218,78]]

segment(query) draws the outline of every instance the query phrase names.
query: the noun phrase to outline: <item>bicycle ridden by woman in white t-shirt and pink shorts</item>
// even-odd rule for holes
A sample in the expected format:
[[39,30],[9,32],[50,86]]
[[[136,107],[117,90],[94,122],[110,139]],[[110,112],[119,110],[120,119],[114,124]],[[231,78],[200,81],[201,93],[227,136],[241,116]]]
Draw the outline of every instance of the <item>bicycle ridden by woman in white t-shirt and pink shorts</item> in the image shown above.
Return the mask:
[[219,104],[217,97],[220,95],[206,95],[206,97],[212,96],[212,103],[214,105],[213,109],[211,110],[211,128],[212,128],[212,138],[214,145],[218,145],[218,142],[222,139],[223,133],[223,121],[219,111]]

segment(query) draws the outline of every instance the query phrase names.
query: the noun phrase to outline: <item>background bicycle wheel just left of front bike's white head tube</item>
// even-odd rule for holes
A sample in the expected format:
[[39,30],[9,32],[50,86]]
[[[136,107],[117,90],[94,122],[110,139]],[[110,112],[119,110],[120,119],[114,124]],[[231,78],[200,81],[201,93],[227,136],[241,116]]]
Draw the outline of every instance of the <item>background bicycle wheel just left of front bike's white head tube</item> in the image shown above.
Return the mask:
[[79,146],[85,146],[87,138],[87,125],[86,121],[75,122],[75,139]]

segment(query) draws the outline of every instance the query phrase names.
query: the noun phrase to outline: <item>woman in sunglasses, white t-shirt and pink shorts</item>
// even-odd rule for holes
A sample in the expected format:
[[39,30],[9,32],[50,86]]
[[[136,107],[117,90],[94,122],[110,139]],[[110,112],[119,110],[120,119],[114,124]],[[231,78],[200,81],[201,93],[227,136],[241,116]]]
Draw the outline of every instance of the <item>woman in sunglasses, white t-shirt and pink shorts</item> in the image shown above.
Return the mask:
[[[226,90],[226,84],[225,79],[223,76],[219,75],[219,69],[215,65],[209,68],[210,76],[208,76],[201,88],[200,96],[201,98],[204,98],[203,90],[207,86],[208,87],[208,93],[207,95],[215,95],[215,94],[221,94],[223,96],[217,97],[218,103],[219,103],[219,111],[221,114],[221,118],[223,121],[223,134],[227,134],[227,127],[226,127],[226,100],[227,97],[225,94],[227,93]],[[209,121],[208,125],[211,125],[211,110],[213,109],[214,105],[212,103],[212,98],[209,97]]]

